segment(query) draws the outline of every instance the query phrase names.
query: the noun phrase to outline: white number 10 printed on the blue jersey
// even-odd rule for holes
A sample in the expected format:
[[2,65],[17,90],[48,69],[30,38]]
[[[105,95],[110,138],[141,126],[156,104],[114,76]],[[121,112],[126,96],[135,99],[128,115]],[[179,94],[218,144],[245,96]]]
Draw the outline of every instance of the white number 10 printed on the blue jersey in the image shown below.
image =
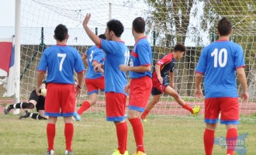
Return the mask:
[[218,67],[218,64],[220,67],[225,67],[227,64],[227,49],[222,48],[220,52],[218,52],[218,49],[214,49],[211,57],[214,57],[214,67]]

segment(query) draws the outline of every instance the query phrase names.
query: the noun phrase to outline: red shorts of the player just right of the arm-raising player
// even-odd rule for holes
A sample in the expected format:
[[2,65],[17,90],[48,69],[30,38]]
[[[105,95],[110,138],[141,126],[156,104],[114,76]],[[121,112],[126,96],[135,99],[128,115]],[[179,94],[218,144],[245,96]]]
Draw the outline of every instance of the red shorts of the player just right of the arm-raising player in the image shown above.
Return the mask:
[[144,112],[152,88],[150,77],[133,78],[130,81],[129,109]]

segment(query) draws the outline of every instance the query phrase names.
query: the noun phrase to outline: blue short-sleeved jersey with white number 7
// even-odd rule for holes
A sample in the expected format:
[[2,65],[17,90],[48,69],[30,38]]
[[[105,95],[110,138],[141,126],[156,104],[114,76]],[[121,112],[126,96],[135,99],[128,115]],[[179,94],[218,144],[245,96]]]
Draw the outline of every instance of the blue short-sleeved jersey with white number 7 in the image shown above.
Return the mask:
[[47,83],[74,84],[74,71],[85,71],[78,50],[55,45],[43,51],[38,71],[47,71]]

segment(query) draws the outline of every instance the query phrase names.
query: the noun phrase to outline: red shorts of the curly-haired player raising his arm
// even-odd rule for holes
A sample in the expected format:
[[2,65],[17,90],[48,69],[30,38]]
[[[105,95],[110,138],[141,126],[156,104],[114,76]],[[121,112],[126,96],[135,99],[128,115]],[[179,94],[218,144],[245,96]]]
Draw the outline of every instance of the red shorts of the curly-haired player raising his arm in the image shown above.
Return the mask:
[[126,119],[126,95],[116,92],[106,92],[107,121],[120,122]]

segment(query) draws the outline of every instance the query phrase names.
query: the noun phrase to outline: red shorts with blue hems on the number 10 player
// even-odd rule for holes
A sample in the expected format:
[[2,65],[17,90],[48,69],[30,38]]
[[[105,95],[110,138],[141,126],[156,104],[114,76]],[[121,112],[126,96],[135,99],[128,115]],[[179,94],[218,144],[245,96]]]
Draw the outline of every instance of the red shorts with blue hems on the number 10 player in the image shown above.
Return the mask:
[[206,98],[205,122],[215,124],[239,124],[238,98]]

